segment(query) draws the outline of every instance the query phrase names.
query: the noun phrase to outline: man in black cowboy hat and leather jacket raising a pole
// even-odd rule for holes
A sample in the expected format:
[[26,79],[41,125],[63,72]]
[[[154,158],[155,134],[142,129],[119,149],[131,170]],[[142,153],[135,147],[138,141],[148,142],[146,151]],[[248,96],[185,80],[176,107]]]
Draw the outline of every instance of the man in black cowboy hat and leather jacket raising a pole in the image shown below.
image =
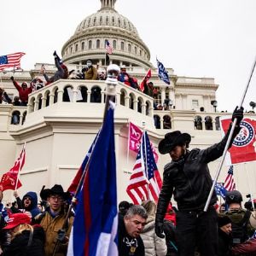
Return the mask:
[[[232,121],[235,118],[237,123],[230,146],[241,129],[243,108],[235,109]],[[203,150],[194,148],[189,151],[191,137],[188,133],[180,131],[167,133],[159,143],[160,154],[170,154],[172,161],[164,170],[155,218],[155,233],[164,237],[163,219],[173,194],[178,207],[176,231],[180,256],[194,255],[196,246],[201,256],[216,256],[218,253],[217,212],[213,207],[217,201],[215,193],[207,212],[203,212],[212,188],[212,177],[207,164],[217,160],[224,153],[229,134],[230,129],[220,143]]]

